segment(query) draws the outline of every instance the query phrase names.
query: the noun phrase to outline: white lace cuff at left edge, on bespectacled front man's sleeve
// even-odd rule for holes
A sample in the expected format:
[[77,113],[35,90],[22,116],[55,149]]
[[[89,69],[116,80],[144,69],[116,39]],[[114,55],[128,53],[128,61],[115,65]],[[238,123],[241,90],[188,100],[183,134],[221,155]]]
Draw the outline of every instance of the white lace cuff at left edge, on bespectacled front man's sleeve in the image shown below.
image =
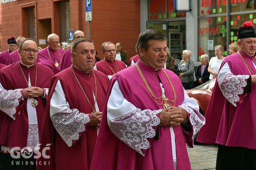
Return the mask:
[[21,98],[22,89],[1,90],[0,91],[0,109],[15,120],[16,107],[19,106],[19,98]]

